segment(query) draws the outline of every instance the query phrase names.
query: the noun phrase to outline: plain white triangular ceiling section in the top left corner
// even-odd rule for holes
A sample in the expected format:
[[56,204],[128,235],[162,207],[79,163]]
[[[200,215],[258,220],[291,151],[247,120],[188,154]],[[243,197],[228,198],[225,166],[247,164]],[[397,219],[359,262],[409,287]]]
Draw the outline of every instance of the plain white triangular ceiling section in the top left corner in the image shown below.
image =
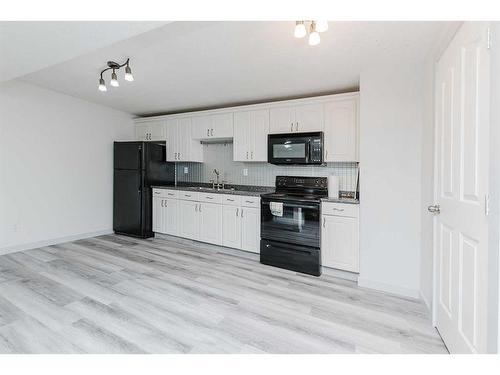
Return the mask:
[[89,53],[166,22],[0,22],[0,82]]

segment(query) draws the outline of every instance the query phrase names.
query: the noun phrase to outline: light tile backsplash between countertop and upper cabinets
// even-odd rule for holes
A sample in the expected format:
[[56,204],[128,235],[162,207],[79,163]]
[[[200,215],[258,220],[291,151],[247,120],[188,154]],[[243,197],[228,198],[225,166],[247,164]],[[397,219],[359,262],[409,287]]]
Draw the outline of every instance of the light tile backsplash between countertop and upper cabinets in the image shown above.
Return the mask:
[[[276,176],[318,176],[331,174],[340,177],[340,190],[355,191],[358,178],[357,163],[327,163],[325,166],[280,166],[269,163],[233,161],[233,144],[204,144],[203,163],[177,163],[177,181],[209,182],[215,179],[214,168],[220,180],[233,185],[274,186]],[[184,173],[187,167],[188,173]],[[244,172],[248,173],[247,176]]]

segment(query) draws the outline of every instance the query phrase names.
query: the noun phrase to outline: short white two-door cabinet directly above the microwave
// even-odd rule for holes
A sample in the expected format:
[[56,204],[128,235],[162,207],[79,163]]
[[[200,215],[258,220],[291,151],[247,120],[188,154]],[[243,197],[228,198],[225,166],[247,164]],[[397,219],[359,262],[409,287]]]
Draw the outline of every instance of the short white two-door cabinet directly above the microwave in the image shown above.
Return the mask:
[[270,111],[270,133],[306,133],[323,131],[322,103],[277,107]]

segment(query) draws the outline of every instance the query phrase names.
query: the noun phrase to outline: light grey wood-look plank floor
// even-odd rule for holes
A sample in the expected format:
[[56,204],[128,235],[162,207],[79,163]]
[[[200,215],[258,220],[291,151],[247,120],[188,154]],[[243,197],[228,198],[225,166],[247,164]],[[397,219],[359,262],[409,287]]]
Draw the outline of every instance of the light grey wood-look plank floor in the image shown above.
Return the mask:
[[0,256],[1,353],[446,353],[421,302],[178,238]]

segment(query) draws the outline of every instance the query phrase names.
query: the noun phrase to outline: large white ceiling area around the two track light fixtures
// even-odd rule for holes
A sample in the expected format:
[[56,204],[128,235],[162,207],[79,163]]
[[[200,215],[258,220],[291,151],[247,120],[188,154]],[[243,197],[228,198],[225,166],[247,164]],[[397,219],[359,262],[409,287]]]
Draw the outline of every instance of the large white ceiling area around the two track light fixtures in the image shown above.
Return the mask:
[[[330,22],[321,44],[294,22],[172,22],[23,80],[134,115],[347,91],[374,64],[422,62],[443,22]],[[449,26],[448,26],[449,27]],[[130,57],[135,81],[97,90],[106,61]],[[123,69],[122,69],[123,70]]]

